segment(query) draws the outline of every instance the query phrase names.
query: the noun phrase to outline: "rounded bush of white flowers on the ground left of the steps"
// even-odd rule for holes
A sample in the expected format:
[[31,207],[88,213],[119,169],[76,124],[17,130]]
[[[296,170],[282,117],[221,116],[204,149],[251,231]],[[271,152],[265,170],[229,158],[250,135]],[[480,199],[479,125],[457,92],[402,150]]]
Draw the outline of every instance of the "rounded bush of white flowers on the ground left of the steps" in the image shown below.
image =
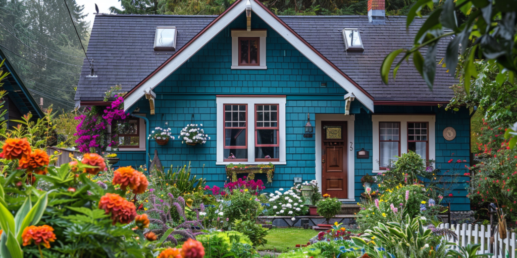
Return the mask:
[[292,216],[291,220],[295,220],[295,216],[307,214],[308,206],[303,205],[303,198],[295,193],[292,189],[284,191],[280,188],[275,193],[269,194],[269,216]]

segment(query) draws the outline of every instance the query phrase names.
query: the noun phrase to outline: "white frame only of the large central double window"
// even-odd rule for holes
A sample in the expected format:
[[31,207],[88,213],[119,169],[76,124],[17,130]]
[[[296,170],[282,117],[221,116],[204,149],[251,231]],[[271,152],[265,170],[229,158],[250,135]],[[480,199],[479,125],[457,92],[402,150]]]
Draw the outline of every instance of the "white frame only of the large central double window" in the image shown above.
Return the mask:
[[[236,164],[264,164],[266,162],[255,162],[255,105],[278,104],[278,122],[280,139],[280,159],[278,162],[271,162],[275,165],[285,165],[285,96],[218,96],[217,102],[217,151],[216,165]],[[224,162],[224,104],[247,104],[248,105],[248,161],[247,162]]]

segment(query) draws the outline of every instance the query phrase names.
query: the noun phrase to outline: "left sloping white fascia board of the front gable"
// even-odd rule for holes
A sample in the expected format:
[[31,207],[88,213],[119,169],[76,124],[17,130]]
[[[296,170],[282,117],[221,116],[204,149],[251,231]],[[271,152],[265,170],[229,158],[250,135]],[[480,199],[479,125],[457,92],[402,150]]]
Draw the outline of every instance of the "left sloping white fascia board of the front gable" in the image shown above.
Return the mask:
[[178,69],[183,63],[191,58],[197,51],[206,45],[211,39],[219,34],[226,26],[228,26],[235,18],[239,16],[243,11],[246,10],[246,1],[240,1],[236,6],[224,14],[224,16],[218,20],[215,24],[212,24],[203,34],[195,39],[190,45],[174,57],[169,63],[163,68],[158,70],[153,76],[151,76],[146,82],[135,91],[131,92],[124,100],[124,111],[128,110],[132,105],[138,102],[144,95],[145,89],[154,89],[158,84],[163,82],[164,79],[169,77],[176,69]]

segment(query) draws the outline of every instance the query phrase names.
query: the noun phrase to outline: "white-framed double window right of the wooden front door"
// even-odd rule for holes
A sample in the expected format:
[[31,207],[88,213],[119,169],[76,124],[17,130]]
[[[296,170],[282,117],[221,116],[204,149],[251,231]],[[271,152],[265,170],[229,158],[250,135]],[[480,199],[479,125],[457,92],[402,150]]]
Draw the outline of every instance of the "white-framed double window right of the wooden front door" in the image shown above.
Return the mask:
[[435,159],[434,115],[373,115],[373,172],[382,172],[397,157],[413,151]]

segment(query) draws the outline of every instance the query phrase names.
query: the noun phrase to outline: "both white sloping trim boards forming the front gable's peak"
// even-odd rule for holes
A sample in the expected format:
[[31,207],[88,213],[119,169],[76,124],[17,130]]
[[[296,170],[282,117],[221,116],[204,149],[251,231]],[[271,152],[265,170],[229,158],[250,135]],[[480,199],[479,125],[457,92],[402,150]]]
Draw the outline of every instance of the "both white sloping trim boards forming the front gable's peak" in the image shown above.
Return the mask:
[[[339,71],[334,69],[323,57],[314,52],[308,45],[301,41],[298,37],[291,33],[282,23],[267,12],[262,6],[256,3],[256,0],[249,0],[251,9],[264,20],[272,29],[277,31],[287,42],[291,43],[300,53],[320,68],[325,74],[339,84],[347,92],[354,92],[356,99],[373,112],[373,100],[367,94],[357,88],[348,78],[343,76]],[[196,38],[186,49],[174,57],[169,63],[158,70],[153,76],[128,94],[124,100],[124,110],[128,110],[132,105],[138,102],[144,95],[144,89],[154,89],[165,78],[171,75],[183,63],[191,58],[197,51],[207,44],[212,38],[217,36],[226,26],[228,26],[235,18],[246,10],[248,1],[240,1],[233,8],[228,10],[215,24],[212,24],[200,37]]]

